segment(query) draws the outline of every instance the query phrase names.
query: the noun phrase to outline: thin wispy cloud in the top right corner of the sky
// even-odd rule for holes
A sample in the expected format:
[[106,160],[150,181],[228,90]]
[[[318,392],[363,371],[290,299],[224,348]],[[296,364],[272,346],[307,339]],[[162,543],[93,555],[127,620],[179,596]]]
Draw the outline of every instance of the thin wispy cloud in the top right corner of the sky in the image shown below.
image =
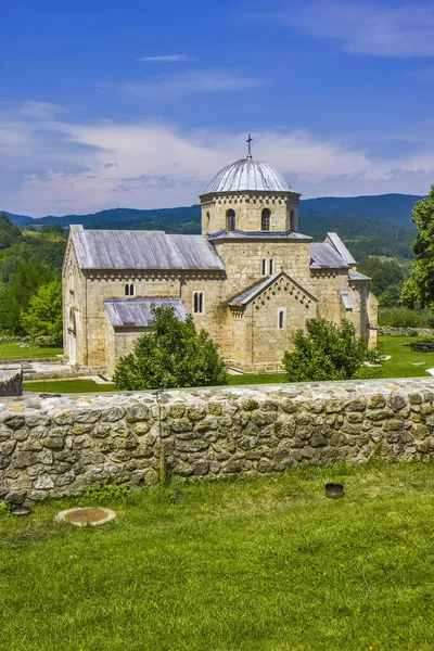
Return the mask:
[[363,0],[290,0],[256,15],[335,39],[354,53],[388,58],[434,56],[434,3]]

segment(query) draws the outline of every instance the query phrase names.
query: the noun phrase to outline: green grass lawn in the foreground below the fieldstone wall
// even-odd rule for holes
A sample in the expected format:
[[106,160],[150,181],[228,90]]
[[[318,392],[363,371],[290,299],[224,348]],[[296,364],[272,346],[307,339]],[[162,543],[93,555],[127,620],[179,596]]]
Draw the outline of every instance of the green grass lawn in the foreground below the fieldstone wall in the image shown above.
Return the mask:
[[95,528],[54,522],[86,498],[3,513],[0,648],[432,650],[433,490],[374,464],[157,486]]

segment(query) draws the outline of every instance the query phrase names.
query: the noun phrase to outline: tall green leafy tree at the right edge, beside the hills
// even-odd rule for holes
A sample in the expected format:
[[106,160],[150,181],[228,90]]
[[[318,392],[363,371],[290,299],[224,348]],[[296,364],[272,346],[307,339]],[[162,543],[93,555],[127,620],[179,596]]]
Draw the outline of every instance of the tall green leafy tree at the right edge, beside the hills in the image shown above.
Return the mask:
[[411,221],[418,227],[412,245],[416,260],[410,278],[405,282],[401,303],[408,307],[430,306],[434,311],[434,183],[430,196],[414,204]]

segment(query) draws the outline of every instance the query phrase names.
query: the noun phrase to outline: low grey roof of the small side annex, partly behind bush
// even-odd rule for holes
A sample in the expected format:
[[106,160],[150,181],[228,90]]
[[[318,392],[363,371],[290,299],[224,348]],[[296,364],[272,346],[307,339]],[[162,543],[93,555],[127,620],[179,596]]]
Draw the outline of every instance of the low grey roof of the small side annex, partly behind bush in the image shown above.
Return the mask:
[[183,321],[188,315],[180,298],[120,298],[104,301],[113,328],[150,328],[153,323],[151,306],[174,307],[175,315]]

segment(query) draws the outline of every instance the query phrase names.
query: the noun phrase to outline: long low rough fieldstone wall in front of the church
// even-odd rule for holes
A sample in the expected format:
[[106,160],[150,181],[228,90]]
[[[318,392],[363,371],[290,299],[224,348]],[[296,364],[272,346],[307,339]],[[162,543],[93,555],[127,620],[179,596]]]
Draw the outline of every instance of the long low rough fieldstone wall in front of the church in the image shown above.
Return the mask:
[[141,485],[336,462],[430,461],[434,380],[3,398],[0,499],[80,495],[97,481]]

